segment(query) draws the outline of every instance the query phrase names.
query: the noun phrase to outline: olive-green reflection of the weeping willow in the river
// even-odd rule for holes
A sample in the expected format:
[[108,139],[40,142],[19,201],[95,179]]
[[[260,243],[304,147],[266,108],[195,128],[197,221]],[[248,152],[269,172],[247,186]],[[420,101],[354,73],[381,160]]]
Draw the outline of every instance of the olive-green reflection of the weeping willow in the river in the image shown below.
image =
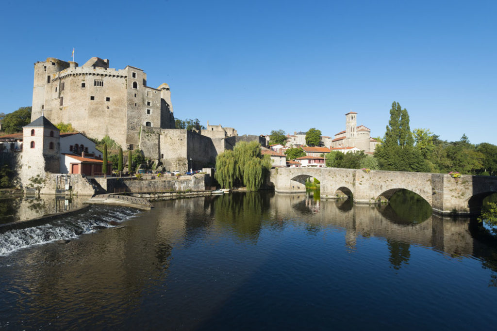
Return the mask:
[[262,220],[268,219],[269,195],[258,192],[223,195],[214,201],[217,224],[231,228],[241,239],[256,240]]

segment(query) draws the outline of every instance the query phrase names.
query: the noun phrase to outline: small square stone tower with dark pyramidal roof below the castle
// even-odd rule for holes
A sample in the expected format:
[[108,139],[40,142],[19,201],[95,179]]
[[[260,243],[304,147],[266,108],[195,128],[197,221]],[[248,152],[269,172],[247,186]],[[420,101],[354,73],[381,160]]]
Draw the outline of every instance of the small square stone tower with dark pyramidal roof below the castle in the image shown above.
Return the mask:
[[22,161],[20,177],[23,183],[45,172],[60,172],[60,131],[43,115],[22,128]]

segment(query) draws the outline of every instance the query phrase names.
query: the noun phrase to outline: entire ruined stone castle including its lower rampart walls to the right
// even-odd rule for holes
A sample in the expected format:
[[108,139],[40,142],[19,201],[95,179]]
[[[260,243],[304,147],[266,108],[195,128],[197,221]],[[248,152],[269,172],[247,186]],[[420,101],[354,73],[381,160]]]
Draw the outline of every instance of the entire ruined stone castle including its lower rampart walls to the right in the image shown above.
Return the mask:
[[167,170],[214,166],[238,135],[220,125],[194,132],[175,129],[166,83],[147,86],[142,69],[112,69],[109,60],[97,57],[83,66],[54,58],[35,63],[31,121],[42,115],[88,137],[108,135],[123,149],[138,148]]

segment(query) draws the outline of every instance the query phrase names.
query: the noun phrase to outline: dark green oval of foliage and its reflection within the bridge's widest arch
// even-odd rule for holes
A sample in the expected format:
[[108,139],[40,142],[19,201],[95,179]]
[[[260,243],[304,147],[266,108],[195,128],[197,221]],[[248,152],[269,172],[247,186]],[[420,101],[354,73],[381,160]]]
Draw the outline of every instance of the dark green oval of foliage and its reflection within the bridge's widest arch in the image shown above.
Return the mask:
[[433,212],[425,199],[409,190],[397,191],[387,205],[379,206],[379,210],[385,218],[401,225],[422,223]]

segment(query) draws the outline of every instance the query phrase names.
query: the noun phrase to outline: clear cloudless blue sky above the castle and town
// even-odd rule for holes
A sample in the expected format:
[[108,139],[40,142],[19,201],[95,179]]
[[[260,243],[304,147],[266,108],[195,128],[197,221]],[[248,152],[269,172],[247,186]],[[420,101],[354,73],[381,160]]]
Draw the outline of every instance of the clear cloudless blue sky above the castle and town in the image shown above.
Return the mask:
[[[404,3],[406,2],[406,3]],[[174,116],[239,134],[357,124],[497,144],[497,1],[14,1],[2,4],[0,112],[32,102],[33,64],[90,57],[166,82]]]

